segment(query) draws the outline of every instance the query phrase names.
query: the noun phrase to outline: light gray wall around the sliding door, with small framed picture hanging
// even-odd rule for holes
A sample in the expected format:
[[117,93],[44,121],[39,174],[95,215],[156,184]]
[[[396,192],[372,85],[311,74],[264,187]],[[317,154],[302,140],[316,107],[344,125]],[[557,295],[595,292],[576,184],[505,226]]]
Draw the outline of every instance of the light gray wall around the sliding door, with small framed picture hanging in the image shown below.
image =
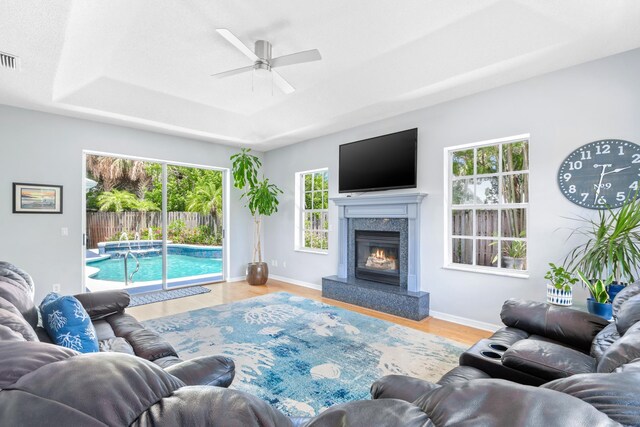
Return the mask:
[[[230,167],[237,149],[87,120],[0,106],[0,260],[27,270],[36,301],[53,283],[67,294],[82,287],[82,150],[94,150],[205,166]],[[13,214],[12,182],[64,186],[62,215]],[[251,257],[252,222],[232,190],[231,277],[244,276]],[[69,236],[61,236],[61,228]]]

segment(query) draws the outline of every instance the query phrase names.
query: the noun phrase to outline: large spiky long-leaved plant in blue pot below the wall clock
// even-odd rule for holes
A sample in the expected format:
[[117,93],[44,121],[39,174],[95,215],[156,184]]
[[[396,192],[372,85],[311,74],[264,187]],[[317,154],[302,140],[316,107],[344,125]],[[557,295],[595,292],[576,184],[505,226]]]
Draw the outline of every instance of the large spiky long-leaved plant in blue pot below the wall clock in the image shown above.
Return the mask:
[[576,220],[583,224],[573,229],[571,236],[583,236],[586,241],[567,255],[565,266],[570,271],[580,270],[589,278],[612,275],[609,292],[613,299],[626,283],[635,281],[640,267],[637,193],[617,211],[605,209],[599,211],[595,219],[579,217]]

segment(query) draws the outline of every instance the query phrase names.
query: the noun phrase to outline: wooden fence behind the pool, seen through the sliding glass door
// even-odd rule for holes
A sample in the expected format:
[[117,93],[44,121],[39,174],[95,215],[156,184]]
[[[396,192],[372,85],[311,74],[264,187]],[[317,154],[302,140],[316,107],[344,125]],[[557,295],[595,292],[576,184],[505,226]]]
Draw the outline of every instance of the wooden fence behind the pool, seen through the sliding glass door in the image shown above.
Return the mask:
[[[181,220],[187,229],[200,225],[213,227],[211,215],[198,212],[167,212],[167,224]],[[148,239],[149,227],[162,227],[161,212],[87,212],[87,248],[98,247],[98,242],[106,242],[112,236],[126,232],[138,232],[140,238]]]

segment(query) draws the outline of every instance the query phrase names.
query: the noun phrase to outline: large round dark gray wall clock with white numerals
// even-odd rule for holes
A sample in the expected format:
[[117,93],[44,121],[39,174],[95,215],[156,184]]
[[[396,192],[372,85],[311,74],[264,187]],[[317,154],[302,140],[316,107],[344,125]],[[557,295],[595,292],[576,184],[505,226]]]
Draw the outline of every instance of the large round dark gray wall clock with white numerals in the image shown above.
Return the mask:
[[564,196],[589,209],[617,208],[638,190],[640,145],[621,139],[590,142],[560,165],[558,185]]

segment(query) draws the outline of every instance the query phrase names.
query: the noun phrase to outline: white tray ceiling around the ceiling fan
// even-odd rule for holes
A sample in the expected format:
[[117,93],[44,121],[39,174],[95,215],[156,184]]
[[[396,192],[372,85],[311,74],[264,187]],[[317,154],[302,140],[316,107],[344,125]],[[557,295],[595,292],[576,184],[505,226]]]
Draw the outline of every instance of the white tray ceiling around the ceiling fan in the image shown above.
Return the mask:
[[[2,0],[0,103],[262,151],[640,47],[638,23],[637,0]],[[216,28],[323,59],[279,69],[290,95],[216,79],[251,63]]]

